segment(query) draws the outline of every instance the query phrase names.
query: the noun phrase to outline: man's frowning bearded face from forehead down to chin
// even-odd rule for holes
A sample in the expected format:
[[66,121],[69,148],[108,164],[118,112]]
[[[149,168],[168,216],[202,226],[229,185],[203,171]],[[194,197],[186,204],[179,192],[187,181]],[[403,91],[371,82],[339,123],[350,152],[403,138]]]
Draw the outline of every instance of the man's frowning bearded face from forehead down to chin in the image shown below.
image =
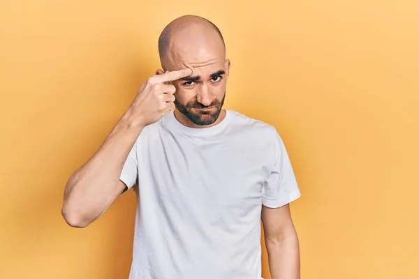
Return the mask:
[[172,83],[176,87],[175,106],[196,125],[211,125],[218,119],[226,98],[230,62],[214,59],[188,64],[192,75]]

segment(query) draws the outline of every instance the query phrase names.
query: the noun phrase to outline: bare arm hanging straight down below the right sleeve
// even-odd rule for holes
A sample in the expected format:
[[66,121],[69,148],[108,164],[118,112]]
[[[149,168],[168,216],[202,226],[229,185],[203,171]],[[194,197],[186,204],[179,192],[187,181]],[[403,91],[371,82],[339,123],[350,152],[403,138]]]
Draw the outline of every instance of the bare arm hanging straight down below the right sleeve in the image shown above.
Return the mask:
[[262,206],[261,218],[272,279],[300,279],[300,245],[289,204]]

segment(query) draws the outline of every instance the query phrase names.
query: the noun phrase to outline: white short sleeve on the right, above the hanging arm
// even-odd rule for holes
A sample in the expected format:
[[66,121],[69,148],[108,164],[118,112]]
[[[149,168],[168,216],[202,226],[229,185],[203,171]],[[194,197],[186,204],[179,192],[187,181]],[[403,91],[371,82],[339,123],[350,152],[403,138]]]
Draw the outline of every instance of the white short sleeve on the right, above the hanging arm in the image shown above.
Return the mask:
[[263,187],[262,204],[277,208],[300,197],[300,189],[284,142],[275,130],[274,165]]

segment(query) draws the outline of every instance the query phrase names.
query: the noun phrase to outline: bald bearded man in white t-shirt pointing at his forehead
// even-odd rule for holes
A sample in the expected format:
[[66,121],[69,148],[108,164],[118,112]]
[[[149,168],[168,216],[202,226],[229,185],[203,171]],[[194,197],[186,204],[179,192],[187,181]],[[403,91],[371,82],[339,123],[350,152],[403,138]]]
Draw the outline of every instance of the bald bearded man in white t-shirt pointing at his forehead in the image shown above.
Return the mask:
[[300,278],[293,168],[273,126],[223,110],[230,61],[221,32],[179,17],[161,33],[159,54],[162,69],[68,180],[66,222],[86,227],[133,188],[130,279],[260,279],[260,219],[272,278]]

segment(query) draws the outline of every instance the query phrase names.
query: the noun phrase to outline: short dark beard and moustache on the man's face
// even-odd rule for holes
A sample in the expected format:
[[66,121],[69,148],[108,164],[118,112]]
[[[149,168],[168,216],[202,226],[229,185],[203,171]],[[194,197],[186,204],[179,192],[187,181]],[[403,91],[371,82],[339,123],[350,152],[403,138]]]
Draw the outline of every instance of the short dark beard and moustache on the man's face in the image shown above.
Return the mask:
[[[215,99],[212,101],[210,105],[202,105],[198,103],[196,100],[193,100],[186,105],[182,105],[181,103],[178,103],[177,100],[175,100],[173,103],[175,103],[175,107],[179,112],[184,114],[190,121],[195,123],[198,126],[205,126],[205,125],[211,125],[216,121],[216,119],[219,118],[219,115],[221,113],[221,108],[224,105],[224,99],[226,98],[226,92],[224,92],[223,99],[219,101],[218,99]],[[199,110],[199,109],[205,109],[212,107],[211,110]]]

